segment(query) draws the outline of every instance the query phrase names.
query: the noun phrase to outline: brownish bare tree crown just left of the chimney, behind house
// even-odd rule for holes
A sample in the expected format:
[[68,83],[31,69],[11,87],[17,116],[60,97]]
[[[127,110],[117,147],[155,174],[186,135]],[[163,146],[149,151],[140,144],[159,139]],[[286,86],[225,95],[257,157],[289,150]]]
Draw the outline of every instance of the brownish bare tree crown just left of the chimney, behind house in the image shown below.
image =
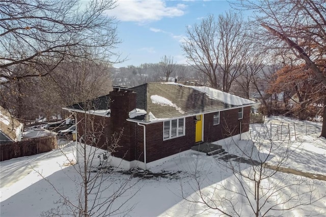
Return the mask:
[[48,81],[54,83],[64,105],[106,95],[112,89],[107,64],[78,58],[62,62]]

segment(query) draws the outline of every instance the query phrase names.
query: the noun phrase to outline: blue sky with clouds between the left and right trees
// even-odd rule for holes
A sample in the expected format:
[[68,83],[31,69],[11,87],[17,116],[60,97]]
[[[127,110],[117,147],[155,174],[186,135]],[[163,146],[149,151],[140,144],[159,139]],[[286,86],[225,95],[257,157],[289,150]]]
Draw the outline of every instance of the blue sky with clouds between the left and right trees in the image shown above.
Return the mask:
[[176,63],[186,64],[180,44],[186,26],[199,23],[208,14],[216,17],[231,9],[227,1],[218,0],[118,0],[118,6],[107,12],[119,21],[117,51],[127,60],[114,66],[139,66],[158,63],[164,55]]

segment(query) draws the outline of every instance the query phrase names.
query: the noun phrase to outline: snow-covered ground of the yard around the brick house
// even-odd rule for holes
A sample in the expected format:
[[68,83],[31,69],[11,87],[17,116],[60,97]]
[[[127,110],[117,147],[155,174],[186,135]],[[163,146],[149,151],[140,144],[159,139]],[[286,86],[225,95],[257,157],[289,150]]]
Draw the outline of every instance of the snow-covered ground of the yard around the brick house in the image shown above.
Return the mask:
[[[290,143],[284,142],[280,138],[278,140],[275,138],[276,143],[286,146],[289,144],[289,150],[292,150],[288,161],[282,166],[300,171],[326,174],[326,140],[318,138],[321,123],[298,122],[280,117],[266,119],[267,125],[270,123],[280,124],[281,122],[285,123],[284,126],[286,124],[293,126],[293,122],[297,123],[295,126],[297,133],[295,135],[297,137],[296,140],[294,139],[294,129],[292,128],[290,128]],[[307,127],[308,125],[309,127]],[[287,126],[289,127],[289,125]],[[263,126],[259,124],[252,125],[251,131],[253,135],[255,135],[255,131],[260,131],[261,128]],[[240,141],[237,143],[237,146],[229,145],[225,148],[229,153],[243,155],[238,150],[238,147],[244,150],[250,150],[252,143]],[[259,151],[256,149],[257,154],[266,154],[267,147],[268,143],[262,145]],[[73,144],[67,145],[62,150],[70,161],[74,159]],[[0,215],[39,216],[41,212],[57,207],[58,204],[54,202],[58,201],[60,197],[42,176],[46,177],[65,196],[75,198],[76,187],[71,177],[78,177],[78,174],[70,166],[66,156],[60,150],[53,150],[47,153],[1,162]],[[275,164],[278,157],[273,155],[273,157],[270,157],[268,163]],[[218,196],[223,196],[223,193],[225,196],[232,196],[232,204],[235,205],[235,209],[240,210],[240,215],[252,216],[253,213],[248,203],[239,195],[227,194],[227,192],[220,192],[219,195],[213,195],[213,191],[220,188],[222,184],[234,190],[240,188],[236,177],[231,170],[223,167],[224,164],[226,162],[218,160],[216,156],[195,153],[180,155],[151,169],[153,173],[162,173],[163,171],[164,173],[172,174],[171,176],[158,176],[146,179],[139,177],[132,178],[131,181],[135,185],[124,197],[117,199],[115,206],[118,206],[126,198],[135,195],[127,204],[129,207],[134,206],[127,214],[129,216],[216,216],[221,214],[216,210],[205,211],[207,207],[204,204],[191,203],[182,198],[183,193],[184,198],[188,200],[199,200],[197,182],[194,179],[194,174],[196,174],[199,186],[206,196],[211,196],[215,201],[219,199]],[[250,166],[247,164],[239,164],[239,167],[244,173],[250,172]],[[106,182],[107,184],[114,183],[119,186],[120,182],[128,178],[129,175],[127,174],[114,172],[113,176],[106,180]],[[267,179],[266,181],[268,183],[263,183],[264,186],[268,186],[270,183],[281,182],[291,184],[299,181],[301,183],[300,187],[294,185],[286,188],[286,192],[280,191],[275,195],[274,199],[271,198],[268,201],[266,206],[273,203],[273,200],[277,200],[280,203],[296,191],[303,194],[301,198],[303,200],[309,198],[317,199],[320,195],[326,193],[326,181],[312,180],[286,173],[277,173],[273,178]],[[312,185],[315,191],[311,196],[307,192],[309,192],[308,189]],[[292,201],[290,203],[293,204],[294,202]],[[284,213],[275,211],[270,214],[282,214],[283,216],[326,216],[326,198],[318,200],[314,205],[299,207],[298,209]]]

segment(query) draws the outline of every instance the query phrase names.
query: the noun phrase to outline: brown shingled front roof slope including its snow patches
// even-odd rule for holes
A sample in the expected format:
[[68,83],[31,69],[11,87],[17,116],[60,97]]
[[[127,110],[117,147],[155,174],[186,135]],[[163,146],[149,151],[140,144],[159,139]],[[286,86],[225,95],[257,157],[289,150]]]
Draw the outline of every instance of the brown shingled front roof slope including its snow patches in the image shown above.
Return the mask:
[[146,122],[217,112],[255,103],[212,88],[177,83],[148,83],[131,89],[137,93],[137,108],[147,112],[133,119]]

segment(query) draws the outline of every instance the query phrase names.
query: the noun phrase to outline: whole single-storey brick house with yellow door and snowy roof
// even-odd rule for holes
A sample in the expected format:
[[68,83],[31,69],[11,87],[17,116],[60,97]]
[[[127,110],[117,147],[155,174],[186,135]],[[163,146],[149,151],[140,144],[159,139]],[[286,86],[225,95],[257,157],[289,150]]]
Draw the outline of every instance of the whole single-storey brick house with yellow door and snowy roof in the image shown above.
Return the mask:
[[[149,168],[200,142],[248,134],[254,101],[192,83],[114,86],[110,94],[63,109],[76,112],[82,137],[85,114],[101,122],[100,143],[123,129],[114,157],[121,167]],[[84,113],[84,114],[83,114]]]

